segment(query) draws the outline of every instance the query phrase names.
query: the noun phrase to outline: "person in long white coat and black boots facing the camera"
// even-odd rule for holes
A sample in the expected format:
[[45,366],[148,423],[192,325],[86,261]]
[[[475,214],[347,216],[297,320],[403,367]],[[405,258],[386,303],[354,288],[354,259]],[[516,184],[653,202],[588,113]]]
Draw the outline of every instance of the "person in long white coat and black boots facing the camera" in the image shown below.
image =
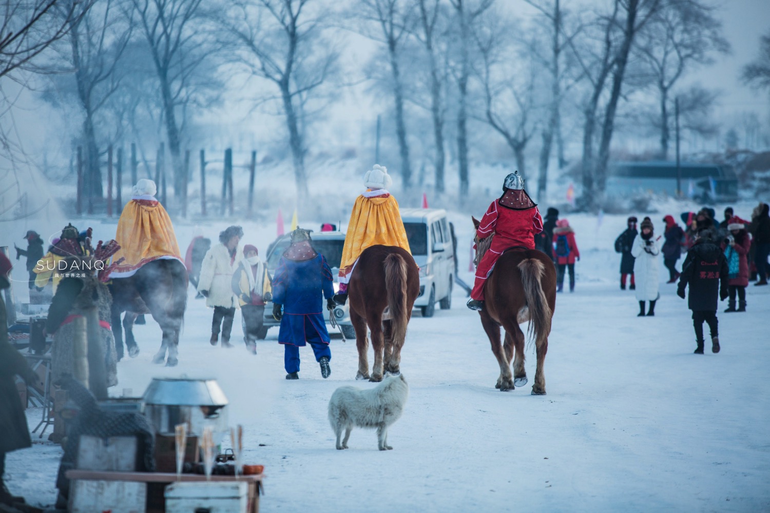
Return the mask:
[[636,275],[636,298],[639,301],[639,314],[643,317],[644,301],[650,301],[650,309],[646,315],[655,315],[655,301],[661,297],[660,292],[660,258],[661,248],[658,240],[654,238],[654,227],[650,218],[644,218],[641,222],[641,232],[634,238],[631,245],[631,255],[634,261],[634,275]]

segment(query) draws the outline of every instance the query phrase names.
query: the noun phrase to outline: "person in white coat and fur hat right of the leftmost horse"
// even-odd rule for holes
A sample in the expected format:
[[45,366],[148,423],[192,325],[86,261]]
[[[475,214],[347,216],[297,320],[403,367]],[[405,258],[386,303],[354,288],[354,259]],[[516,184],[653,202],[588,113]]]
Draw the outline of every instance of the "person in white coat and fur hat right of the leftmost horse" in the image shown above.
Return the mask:
[[238,298],[233,294],[233,273],[243,260],[243,251],[238,247],[243,229],[229,226],[219,233],[219,244],[213,246],[203,257],[200,269],[198,291],[206,297],[206,306],[214,308],[211,321],[211,345],[219,341],[219,325],[222,325],[222,347],[232,348],[230,331],[238,307]]

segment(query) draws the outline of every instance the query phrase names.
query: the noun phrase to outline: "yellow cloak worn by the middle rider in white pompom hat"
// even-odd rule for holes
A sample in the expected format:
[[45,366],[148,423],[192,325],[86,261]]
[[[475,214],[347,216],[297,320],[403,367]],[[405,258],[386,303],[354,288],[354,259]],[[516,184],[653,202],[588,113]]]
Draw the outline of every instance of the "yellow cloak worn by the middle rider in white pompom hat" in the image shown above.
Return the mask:
[[353,264],[364,249],[378,244],[398,246],[411,253],[396,198],[389,193],[373,198],[360,195],[347,225],[340,276],[353,270]]

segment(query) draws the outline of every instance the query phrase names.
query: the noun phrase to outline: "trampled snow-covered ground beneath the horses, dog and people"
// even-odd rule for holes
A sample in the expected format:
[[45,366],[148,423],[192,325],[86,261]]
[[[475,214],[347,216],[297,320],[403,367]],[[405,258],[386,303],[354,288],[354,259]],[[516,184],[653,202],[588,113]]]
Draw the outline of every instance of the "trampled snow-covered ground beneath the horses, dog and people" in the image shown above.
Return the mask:
[[[651,216],[658,233],[665,213]],[[329,379],[304,348],[300,380],[286,381],[276,329],[256,356],[242,344],[212,347],[211,311],[192,289],[179,366],[150,362],[160,331],[149,319],[136,327],[142,353],[119,364],[113,394],[139,395],[155,376],[216,378],[231,424],[244,426],[245,462],[265,465],[262,511],[770,511],[770,290],[749,286],[746,313],[718,315],[721,352],[707,344],[693,355],[690,311],[665,284],[662,261],[655,317],[637,318],[634,292],[619,290],[611,244],[624,218],[570,218],[581,261],[576,291],[557,298],[545,396],[529,393],[532,347],[530,384],[494,388],[497,362],[459,289],[450,311],[412,318],[401,365],[410,399],[390,429],[393,451],[377,451],[375,433],[362,429],[349,450],[334,448],[332,392],[374,386],[353,380],[353,341],[333,339]],[[452,220],[470,282],[469,221]],[[207,227],[209,236],[226,224]],[[95,226],[95,237],[110,238],[109,229]],[[246,223],[244,242],[264,252],[274,230]],[[192,225],[177,228],[182,251],[191,234]],[[236,314],[233,341],[241,336]],[[29,411],[32,426],[39,415]],[[8,486],[52,504],[60,454],[48,443],[9,454]]]

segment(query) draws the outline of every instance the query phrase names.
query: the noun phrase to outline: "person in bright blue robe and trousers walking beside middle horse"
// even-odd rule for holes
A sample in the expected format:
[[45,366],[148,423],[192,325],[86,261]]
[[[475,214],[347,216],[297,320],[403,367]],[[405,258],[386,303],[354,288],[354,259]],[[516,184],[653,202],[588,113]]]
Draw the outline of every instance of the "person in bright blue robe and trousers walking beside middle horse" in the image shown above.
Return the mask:
[[321,375],[328,378],[332,353],[323,320],[323,298],[326,308],[333,308],[332,271],[326,258],[310,245],[309,232],[297,228],[291,233],[291,242],[273,276],[273,317],[281,321],[278,343],[284,348],[286,379],[300,378],[300,347],[306,344],[313,348]]

